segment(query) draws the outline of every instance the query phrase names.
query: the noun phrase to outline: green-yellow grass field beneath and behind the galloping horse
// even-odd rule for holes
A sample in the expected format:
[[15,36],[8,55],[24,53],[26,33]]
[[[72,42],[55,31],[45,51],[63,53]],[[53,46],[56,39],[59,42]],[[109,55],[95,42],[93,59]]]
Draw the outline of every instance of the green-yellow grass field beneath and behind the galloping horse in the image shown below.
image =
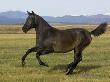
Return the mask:
[[[92,30],[95,25],[56,25],[81,27]],[[4,28],[2,28],[4,27]],[[21,57],[35,46],[34,30],[23,34],[21,26],[0,26],[0,82],[110,82],[110,29],[100,37],[94,37],[83,52],[83,60],[72,75],[65,75],[65,67],[73,59],[73,53],[48,54],[42,60],[49,67],[40,66],[31,53],[26,66],[21,66]]]

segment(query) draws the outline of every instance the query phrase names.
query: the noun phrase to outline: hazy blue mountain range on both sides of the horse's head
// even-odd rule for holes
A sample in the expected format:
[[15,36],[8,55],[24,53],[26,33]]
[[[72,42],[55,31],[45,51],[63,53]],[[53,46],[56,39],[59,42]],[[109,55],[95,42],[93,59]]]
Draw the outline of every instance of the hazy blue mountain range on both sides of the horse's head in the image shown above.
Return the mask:
[[[21,11],[7,11],[0,13],[0,24],[23,24],[27,14]],[[42,16],[49,23],[65,23],[65,24],[98,24],[101,22],[109,22],[109,15],[91,15],[91,16],[71,16],[62,17]]]

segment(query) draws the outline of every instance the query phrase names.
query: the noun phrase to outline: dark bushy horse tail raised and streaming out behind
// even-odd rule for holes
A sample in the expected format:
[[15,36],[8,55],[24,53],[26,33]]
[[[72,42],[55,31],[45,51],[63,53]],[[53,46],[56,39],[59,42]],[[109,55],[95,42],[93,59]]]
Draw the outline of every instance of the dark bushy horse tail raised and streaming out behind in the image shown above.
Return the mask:
[[106,31],[107,23],[100,24],[95,30],[91,31],[94,36],[99,36]]

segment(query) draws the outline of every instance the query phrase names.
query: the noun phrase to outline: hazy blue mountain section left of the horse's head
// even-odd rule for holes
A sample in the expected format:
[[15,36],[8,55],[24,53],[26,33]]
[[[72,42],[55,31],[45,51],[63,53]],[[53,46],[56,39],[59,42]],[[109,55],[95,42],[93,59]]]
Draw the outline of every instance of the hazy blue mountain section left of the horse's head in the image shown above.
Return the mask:
[[26,16],[26,13],[21,11],[2,12],[0,13],[0,24],[22,24]]

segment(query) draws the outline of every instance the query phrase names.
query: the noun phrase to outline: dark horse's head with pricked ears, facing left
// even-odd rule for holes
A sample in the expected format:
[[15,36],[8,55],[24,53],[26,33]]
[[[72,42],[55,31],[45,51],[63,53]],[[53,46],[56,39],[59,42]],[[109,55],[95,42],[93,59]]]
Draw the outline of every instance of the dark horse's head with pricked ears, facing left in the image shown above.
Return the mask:
[[32,28],[36,28],[37,26],[35,21],[36,14],[33,11],[32,13],[27,11],[27,14],[28,14],[28,17],[26,19],[24,26],[22,27],[22,31],[25,33],[27,33]]

